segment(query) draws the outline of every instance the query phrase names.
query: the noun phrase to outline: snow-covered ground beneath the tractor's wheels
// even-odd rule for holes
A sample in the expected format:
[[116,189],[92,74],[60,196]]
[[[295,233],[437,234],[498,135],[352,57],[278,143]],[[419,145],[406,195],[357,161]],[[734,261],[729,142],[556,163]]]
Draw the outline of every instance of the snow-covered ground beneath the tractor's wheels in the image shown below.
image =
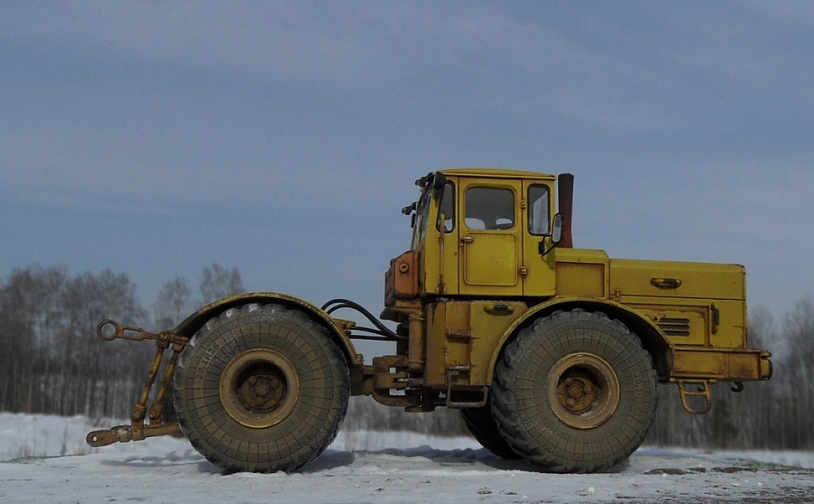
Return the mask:
[[[109,425],[105,425],[109,426]],[[0,413],[0,502],[814,503],[814,453],[642,448],[601,474],[506,462],[466,437],[340,432],[294,474],[224,474],[183,438],[91,449],[82,417]]]

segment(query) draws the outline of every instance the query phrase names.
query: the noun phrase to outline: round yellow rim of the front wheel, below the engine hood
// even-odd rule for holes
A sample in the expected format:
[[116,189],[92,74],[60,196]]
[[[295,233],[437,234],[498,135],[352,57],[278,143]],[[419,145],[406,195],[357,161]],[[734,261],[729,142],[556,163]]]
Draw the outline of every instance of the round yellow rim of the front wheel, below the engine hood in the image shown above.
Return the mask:
[[548,402],[565,425],[592,429],[619,406],[619,378],[611,365],[590,353],[559,359],[548,375]]

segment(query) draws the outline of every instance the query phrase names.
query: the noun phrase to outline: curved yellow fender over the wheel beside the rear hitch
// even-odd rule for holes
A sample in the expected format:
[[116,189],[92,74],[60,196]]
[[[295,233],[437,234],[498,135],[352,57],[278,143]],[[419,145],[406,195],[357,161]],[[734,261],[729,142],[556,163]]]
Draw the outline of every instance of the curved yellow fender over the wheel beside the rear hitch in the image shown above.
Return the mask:
[[212,320],[230,308],[251,303],[279,303],[308,314],[314,322],[317,322],[327,329],[331,339],[336,341],[342,353],[345,354],[348,366],[353,368],[361,367],[364,364],[364,358],[361,354],[356,352],[354,344],[348,337],[345,326],[342,325],[341,322],[314,304],[289,294],[247,293],[226,297],[214,303],[207,304],[197,312],[188,316],[184,322],[181,322],[175,327],[174,332],[181,336],[192,338],[194,333],[200,331],[207,321]]

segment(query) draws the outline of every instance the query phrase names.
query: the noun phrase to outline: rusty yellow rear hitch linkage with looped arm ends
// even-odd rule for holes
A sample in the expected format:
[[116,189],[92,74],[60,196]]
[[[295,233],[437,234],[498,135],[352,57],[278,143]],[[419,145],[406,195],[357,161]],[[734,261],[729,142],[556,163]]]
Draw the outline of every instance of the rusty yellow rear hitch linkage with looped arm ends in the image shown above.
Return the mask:
[[[166,395],[166,388],[169,386],[173,374],[175,373],[175,364],[178,360],[178,355],[181,353],[181,350],[185,349],[189,338],[175,334],[175,332],[172,331],[159,333],[148,332],[139,327],[124,325],[111,320],[99,322],[99,325],[96,327],[96,334],[99,336],[99,339],[103,341],[156,341],[156,354],[153,356],[150,368],[147,371],[147,381],[141,392],[141,396],[138,398],[136,406],[133,406],[133,411],[130,415],[130,425],[116,425],[109,429],[90,432],[85,438],[85,441],[90,444],[90,446],[97,448],[112,443],[141,441],[147,437],[177,434],[181,432],[181,428],[177,422],[162,424],[161,405]],[[158,370],[161,368],[161,362],[164,359],[164,352],[170,347],[172,347],[173,353],[164,369],[164,376],[156,392],[155,401],[149,408],[149,415],[146,415],[147,400],[150,397],[150,391],[156,383]]]

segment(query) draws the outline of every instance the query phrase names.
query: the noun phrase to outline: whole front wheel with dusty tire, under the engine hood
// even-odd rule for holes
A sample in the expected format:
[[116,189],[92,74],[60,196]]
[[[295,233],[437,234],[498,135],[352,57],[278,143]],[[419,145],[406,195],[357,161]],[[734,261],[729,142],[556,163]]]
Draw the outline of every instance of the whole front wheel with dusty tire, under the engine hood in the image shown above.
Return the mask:
[[506,345],[491,387],[506,442],[550,472],[627,459],[656,416],[657,375],[639,338],[604,313],[556,312]]

